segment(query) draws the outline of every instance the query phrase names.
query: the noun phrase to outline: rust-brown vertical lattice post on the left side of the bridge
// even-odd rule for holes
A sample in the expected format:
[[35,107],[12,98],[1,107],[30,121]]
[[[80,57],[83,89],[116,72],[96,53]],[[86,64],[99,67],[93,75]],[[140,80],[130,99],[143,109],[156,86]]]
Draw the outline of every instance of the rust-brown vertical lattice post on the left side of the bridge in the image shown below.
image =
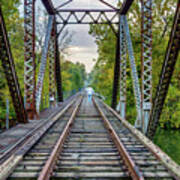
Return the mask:
[[24,0],[24,99],[29,119],[35,107],[35,0]]

